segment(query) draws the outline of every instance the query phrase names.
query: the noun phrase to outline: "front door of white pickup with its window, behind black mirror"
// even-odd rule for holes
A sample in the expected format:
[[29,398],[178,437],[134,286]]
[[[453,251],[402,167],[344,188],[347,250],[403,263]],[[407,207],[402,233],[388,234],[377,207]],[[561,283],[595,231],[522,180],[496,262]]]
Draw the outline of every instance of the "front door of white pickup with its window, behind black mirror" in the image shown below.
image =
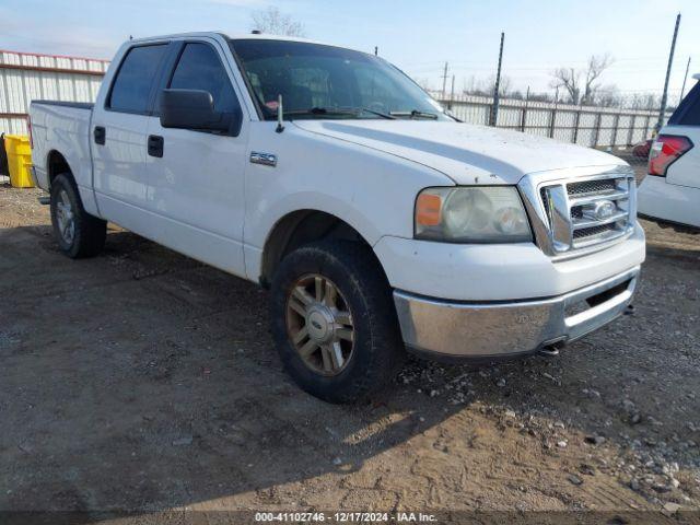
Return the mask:
[[[178,44],[172,70],[163,73],[160,88],[207,91],[217,112],[241,112],[241,94],[219,44],[207,38]],[[150,151],[145,162],[148,207],[154,214],[153,238],[244,276],[243,183],[249,119],[244,114],[236,137],[163,128],[158,101],[156,96],[148,137],[161,148]]]

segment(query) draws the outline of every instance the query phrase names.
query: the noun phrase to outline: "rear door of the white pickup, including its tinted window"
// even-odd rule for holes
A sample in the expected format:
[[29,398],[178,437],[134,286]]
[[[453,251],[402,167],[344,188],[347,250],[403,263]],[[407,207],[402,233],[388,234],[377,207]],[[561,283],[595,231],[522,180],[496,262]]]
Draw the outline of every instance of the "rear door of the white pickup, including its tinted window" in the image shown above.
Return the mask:
[[167,43],[131,47],[124,55],[91,127],[93,184],[101,214],[140,231],[147,196],[147,126]]

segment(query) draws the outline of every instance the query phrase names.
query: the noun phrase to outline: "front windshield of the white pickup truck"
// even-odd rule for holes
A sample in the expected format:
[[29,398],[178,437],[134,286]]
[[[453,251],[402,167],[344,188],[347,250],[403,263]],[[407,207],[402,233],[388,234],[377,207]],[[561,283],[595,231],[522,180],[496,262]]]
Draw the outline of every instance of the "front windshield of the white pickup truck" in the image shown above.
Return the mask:
[[450,119],[440,104],[381,58],[304,42],[231,40],[266,119]]

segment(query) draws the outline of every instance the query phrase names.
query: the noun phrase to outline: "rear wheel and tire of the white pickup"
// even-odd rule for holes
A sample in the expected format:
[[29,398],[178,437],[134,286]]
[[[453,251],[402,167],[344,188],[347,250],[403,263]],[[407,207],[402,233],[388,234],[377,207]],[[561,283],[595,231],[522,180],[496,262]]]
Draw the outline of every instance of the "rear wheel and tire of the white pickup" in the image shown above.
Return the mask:
[[105,246],[107,222],[83,208],[70,174],[51,183],[51,225],[60,250],[72,259],[94,257]]

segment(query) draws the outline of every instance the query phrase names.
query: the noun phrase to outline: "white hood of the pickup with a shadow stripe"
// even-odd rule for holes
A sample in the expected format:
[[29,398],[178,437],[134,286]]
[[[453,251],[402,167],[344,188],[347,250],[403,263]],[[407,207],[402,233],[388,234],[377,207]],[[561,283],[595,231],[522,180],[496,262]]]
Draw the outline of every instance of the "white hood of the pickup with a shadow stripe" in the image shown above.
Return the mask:
[[580,145],[486,126],[425,120],[295,120],[298,127],[438,170],[457,184],[516,184],[568,167],[625,165]]

